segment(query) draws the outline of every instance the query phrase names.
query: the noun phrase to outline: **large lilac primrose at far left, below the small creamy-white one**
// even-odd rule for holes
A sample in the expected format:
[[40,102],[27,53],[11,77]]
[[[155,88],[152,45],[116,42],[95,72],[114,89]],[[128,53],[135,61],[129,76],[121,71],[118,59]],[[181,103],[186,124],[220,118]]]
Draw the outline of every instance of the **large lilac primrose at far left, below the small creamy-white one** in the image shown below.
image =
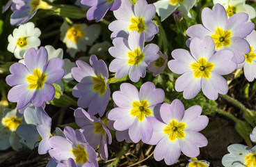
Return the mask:
[[26,51],[24,64],[14,63],[10,66],[10,75],[6,83],[13,86],[8,93],[10,102],[17,102],[17,109],[23,109],[29,102],[36,107],[45,101],[54,99],[55,88],[52,84],[65,75],[62,69],[64,61],[61,58],[48,60],[47,50],[40,47]]

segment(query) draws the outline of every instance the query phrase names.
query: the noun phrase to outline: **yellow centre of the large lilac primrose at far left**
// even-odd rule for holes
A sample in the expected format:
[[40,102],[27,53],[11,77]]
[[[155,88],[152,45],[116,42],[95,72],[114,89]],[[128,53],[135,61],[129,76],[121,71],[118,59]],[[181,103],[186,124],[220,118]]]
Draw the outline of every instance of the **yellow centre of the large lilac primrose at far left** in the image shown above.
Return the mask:
[[47,74],[41,73],[39,69],[35,69],[33,75],[26,77],[26,81],[29,82],[29,89],[41,89],[45,85]]

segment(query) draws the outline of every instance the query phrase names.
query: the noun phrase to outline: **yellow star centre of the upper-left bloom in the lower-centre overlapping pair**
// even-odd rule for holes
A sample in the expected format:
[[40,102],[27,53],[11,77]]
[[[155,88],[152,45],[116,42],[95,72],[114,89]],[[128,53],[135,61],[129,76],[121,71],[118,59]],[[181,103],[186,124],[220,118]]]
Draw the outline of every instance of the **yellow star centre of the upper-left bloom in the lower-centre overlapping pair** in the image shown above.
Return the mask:
[[131,106],[134,107],[134,109],[131,109],[131,116],[138,116],[138,120],[141,122],[144,120],[145,116],[152,115],[152,111],[147,108],[149,106],[147,100],[141,100],[141,102],[134,101]]

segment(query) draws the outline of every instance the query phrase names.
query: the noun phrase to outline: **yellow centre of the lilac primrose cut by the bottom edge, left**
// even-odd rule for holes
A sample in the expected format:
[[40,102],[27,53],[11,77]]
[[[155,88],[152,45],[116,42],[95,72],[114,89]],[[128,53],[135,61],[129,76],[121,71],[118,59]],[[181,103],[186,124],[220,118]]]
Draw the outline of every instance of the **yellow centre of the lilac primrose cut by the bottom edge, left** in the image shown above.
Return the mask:
[[74,154],[74,161],[77,164],[85,164],[88,161],[88,154],[83,146],[77,145],[77,148],[73,148],[71,152]]

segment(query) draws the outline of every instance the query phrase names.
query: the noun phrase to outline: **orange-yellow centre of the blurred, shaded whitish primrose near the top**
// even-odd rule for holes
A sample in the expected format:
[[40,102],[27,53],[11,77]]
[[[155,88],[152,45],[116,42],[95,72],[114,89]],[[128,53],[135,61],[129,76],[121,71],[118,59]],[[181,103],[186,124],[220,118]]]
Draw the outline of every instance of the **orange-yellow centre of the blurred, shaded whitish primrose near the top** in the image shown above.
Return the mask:
[[67,29],[67,40],[73,40],[74,43],[79,42],[84,35],[85,33],[81,31],[81,26],[78,24]]

